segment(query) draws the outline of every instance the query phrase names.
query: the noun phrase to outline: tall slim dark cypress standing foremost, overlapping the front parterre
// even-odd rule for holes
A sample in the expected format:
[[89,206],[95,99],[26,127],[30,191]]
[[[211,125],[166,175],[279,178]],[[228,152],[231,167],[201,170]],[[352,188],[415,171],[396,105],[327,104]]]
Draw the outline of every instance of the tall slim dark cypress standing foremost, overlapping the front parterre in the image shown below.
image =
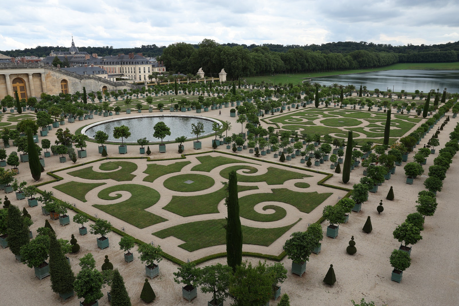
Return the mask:
[[226,198],[228,217],[226,225],[226,259],[228,266],[236,270],[242,262],[242,228],[239,218],[239,200],[237,197],[237,174],[229,172],[228,197]]

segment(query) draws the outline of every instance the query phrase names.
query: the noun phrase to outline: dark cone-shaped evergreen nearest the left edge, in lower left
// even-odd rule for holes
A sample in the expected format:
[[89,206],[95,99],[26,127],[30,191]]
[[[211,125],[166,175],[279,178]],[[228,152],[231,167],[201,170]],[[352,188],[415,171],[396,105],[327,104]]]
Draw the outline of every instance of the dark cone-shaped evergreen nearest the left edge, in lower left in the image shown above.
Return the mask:
[[24,223],[22,213],[15,205],[8,206],[8,219],[6,221],[6,241],[8,246],[14,255],[19,256],[21,254],[21,246],[27,245],[29,242],[28,238],[28,226]]

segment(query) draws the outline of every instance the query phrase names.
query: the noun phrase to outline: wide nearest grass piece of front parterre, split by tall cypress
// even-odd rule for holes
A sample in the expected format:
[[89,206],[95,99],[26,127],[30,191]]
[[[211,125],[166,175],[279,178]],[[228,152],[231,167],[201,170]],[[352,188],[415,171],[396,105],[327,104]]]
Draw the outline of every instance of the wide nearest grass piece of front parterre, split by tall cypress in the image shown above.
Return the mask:
[[[242,243],[269,246],[300,220],[301,218],[297,222],[281,228],[251,228],[242,225]],[[226,244],[225,226],[225,219],[204,220],[165,228],[153,233],[153,235],[161,239],[174,236],[186,241],[179,247],[192,252],[210,246]]]

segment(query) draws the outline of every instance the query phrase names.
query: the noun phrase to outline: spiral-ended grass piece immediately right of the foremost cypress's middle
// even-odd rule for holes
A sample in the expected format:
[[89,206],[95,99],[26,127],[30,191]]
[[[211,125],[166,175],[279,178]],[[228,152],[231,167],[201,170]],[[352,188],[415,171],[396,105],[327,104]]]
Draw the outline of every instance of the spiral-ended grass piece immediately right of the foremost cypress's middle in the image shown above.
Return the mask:
[[286,188],[271,190],[273,193],[258,193],[239,198],[240,216],[253,221],[277,221],[285,217],[286,211],[284,208],[267,205],[263,207],[263,210],[274,209],[275,212],[272,214],[261,214],[256,212],[253,207],[261,202],[276,201],[290,204],[297,207],[299,211],[309,213],[333,194],[331,192],[319,194],[316,191],[297,192]]

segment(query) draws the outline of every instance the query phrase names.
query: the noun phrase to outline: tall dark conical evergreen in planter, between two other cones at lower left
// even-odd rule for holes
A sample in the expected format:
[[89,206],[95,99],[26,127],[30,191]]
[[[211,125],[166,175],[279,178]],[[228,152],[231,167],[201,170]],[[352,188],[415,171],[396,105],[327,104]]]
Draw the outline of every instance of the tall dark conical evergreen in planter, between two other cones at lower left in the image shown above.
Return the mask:
[[51,289],[56,293],[65,295],[73,291],[75,275],[54,233],[50,233],[50,280]]

